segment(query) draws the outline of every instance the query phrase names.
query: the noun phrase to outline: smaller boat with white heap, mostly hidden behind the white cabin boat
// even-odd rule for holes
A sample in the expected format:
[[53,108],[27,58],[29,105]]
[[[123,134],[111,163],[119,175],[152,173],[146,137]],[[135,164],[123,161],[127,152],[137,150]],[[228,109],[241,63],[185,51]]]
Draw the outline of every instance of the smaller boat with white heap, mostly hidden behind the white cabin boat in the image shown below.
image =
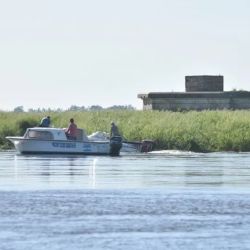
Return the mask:
[[[89,141],[108,141],[109,134],[106,132],[97,131],[88,136]],[[153,140],[128,141],[123,139],[121,152],[131,153],[147,153],[154,149],[155,142]]]

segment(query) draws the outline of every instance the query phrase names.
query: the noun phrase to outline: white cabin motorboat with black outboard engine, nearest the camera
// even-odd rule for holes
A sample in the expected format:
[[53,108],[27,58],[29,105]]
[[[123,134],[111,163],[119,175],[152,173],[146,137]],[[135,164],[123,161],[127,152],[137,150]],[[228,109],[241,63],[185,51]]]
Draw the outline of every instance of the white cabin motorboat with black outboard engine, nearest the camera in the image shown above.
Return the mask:
[[76,140],[69,140],[63,128],[28,128],[24,136],[7,136],[19,153],[85,154],[118,156],[121,136],[109,140],[89,140],[83,129],[77,129]]

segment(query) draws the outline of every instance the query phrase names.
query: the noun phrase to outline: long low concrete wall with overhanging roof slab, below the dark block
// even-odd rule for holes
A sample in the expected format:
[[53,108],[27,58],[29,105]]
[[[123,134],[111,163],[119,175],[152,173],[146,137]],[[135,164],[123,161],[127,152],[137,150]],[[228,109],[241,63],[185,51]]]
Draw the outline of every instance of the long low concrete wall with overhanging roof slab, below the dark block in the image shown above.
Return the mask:
[[144,110],[250,109],[250,92],[193,92],[139,94]]

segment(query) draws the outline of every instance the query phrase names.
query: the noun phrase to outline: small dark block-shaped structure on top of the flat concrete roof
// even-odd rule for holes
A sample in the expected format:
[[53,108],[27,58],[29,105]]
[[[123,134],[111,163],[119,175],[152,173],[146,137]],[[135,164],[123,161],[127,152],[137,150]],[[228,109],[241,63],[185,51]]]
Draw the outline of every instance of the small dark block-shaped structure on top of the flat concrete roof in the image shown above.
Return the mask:
[[186,92],[223,91],[223,76],[185,76]]

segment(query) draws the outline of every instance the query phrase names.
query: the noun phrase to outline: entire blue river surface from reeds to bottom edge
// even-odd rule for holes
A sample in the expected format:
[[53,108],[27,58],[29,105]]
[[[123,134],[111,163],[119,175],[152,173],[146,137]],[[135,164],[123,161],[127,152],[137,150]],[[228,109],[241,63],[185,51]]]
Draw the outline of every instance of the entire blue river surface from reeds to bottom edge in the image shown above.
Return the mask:
[[0,152],[0,249],[250,249],[250,153]]

